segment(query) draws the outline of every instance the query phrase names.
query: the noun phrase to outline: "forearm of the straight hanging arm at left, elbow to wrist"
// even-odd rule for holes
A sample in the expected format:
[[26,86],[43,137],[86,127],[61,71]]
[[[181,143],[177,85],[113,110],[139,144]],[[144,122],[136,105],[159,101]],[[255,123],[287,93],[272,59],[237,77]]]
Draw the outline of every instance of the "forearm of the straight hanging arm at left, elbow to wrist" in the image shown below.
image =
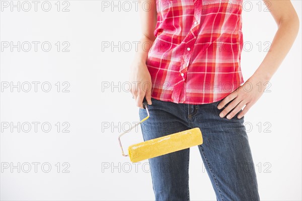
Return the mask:
[[134,55],[134,63],[145,63],[147,61],[147,55],[149,52],[149,49],[153,45],[154,40],[148,38],[147,36],[143,35],[140,40],[140,43],[138,43],[137,52]]

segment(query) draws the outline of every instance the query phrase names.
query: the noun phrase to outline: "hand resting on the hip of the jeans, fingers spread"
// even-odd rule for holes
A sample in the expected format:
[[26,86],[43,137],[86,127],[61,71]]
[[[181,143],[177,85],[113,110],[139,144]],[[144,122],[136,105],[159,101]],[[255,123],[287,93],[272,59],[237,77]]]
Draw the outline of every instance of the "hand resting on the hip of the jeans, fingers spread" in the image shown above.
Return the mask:
[[228,116],[226,116],[226,118],[232,119],[234,115],[237,114],[243,108],[243,106],[246,105],[242,112],[238,114],[237,118],[244,116],[262,96],[265,89],[264,84],[266,84],[266,82],[268,82],[268,80],[254,74],[242,86],[226,96],[217,105],[217,108],[221,109],[224,105],[231,101],[230,104],[220,112],[219,116],[223,118],[233,109],[233,111],[228,114]]

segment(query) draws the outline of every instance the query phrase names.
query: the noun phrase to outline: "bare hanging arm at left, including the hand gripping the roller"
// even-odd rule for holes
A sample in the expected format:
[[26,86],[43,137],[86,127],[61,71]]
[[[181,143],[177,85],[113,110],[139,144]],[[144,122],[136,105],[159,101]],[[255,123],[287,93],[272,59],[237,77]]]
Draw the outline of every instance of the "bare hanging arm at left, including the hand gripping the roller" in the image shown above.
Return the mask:
[[[138,50],[130,66],[129,82],[132,84],[131,93],[136,106],[142,107],[143,98],[148,104],[151,102],[151,77],[146,66],[147,54],[155,40],[154,30],[157,24],[156,0],[139,1],[139,17],[141,25],[141,38]],[[146,84],[147,83],[147,84]]]

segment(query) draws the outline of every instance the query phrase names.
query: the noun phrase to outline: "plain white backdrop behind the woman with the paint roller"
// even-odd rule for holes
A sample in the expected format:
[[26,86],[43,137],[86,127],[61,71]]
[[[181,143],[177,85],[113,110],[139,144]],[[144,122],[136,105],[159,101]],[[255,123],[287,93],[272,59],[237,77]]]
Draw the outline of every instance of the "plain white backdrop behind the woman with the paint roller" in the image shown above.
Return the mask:
[[[31,1],[29,12],[23,10],[27,9],[25,4],[20,11],[18,8],[11,11],[11,5],[2,7],[1,41],[14,44],[29,41],[32,49],[24,51],[27,49],[24,44],[20,52],[17,48],[11,51],[10,47],[1,50],[1,199],[154,200],[147,160],[132,164],[121,155],[117,139],[129,124],[139,121],[138,108],[127,85],[123,85],[128,81],[135,53],[133,41],[140,38],[135,4],[130,2],[130,11],[125,11],[126,5],[120,11],[119,7],[112,11],[109,1],[110,7],[102,11],[102,1],[61,1],[58,12],[56,2],[50,1],[49,12],[42,10],[43,1],[38,4],[37,12]],[[301,1],[291,2],[301,21]],[[249,11],[247,4],[243,11],[243,37],[253,48],[249,50],[247,45],[242,52],[245,81],[258,68],[266,54],[265,42],[271,42],[277,30],[262,1],[249,3],[253,8]],[[69,12],[62,12],[66,6]],[[40,42],[37,51],[32,41]],[[45,41],[52,45],[48,52],[41,49]],[[64,41],[68,42],[69,52],[58,51],[55,45],[58,41],[61,48],[66,47]],[[111,46],[102,49],[104,42],[110,45],[126,42],[132,46],[129,51],[128,45],[120,50],[117,47],[111,50]],[[20,82],[23,90],[4,88],[11,82],[14,85]],[[37,92],[34,84],[25,92],[27,82],[40,82]],[[44,82],[50,83],[49,92],[42,91]],[[58,82],[59,92],[55,85]],[[69,92],[62,92],[67,86],[64,82],[69,84]],[[120,87],[113,87],[119,83]],[[248,136],[260,198],[301,200],[300,31],[270,83],[271,92],[265,92],[245,115],[247,129],[252,125]],[[104,87],[106,84],[109,88]],[[47,85],[43,89],[47,90]],[[24,127],[20,125],[20,132],[17,128],[12,131],[11,127],[5,128],[6,122],[13,125],[20,122]],[[32,125],[29,132],[25,132],[28,128],[25,122]],[[40,123],[37,132],[31,122]],[[49,132],[42,130],[43,122],[51,125]],[[69,132],[62,132],[68,124]],[[140,128],[130,133],[122,138],[125,149],[143,141]],[[35,162],[40,163],[36,172]],[[18,167],[18,163],[20,172],[18,168],[11,169],[11,165]],[[43,172],[48,169],[47,165],[42,169],[43,163],[51,165],[48,173]],[[28,164],[31,170],[26,173]],[[5,169],[6,165],[10,167]],[[69,173],[63,173],[64,168]],[[191,148],[190,155],[190,197],[216,200],[197,147]]]

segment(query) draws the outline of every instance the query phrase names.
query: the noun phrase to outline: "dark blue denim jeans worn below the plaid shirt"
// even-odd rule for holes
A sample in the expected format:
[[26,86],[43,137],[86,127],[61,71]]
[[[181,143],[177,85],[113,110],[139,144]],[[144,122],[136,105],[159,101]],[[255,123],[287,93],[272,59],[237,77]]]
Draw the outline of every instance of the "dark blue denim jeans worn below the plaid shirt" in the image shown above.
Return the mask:
[[[221,101],[193,105],[152,98],[150,117],[141,123],[143,140],[199,127],[203,144],[198,148],[216,199],[260,200],[244,116],[238,119],[238,112],[232,119],[219,117]],[[139,108],[140,120],[146,116]],[[156,200],[190,200],[189,152],[190,148],[148,160]]]

